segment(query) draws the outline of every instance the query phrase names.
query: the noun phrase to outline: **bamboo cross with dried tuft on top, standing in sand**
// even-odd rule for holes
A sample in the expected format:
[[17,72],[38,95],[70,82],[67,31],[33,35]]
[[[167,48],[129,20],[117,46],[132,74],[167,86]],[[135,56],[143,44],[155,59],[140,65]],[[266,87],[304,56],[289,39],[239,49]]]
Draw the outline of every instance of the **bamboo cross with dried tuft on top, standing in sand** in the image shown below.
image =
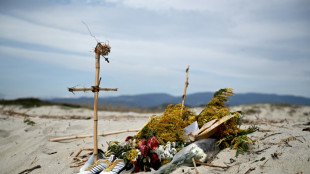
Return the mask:
[[[96,77],[95,77],[95,85],[91,88],[68,88],[70,92],[74,91],[92,91],[94,93],[94,159],[95,162],[98,160],[98,93],[99,91],[117,91],[117,88],[101,88],[100,80],[99,79],[99,72],[100,72],[100,55],[101,56],[107,56],[110,53],[111,47],[108,44],[101,44],[100,42],[97,43],[97,46],[95,47],[95,53],[96,53]],[[109,63],[109,59],[104,57],[105,60]]]

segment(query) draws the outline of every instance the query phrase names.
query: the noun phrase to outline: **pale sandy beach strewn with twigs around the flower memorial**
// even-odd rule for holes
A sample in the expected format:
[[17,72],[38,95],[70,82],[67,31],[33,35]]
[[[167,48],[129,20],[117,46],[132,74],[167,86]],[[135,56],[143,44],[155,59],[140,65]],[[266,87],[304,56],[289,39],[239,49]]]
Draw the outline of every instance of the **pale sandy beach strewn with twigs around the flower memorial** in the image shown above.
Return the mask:
[[[202,108],[193,108],[199,113]],[[310,106],[277,104],[241,105],[231,111],[244,111],[244,127],[257,125],[259,131],[249,135],[255,141],[250,152],[235,156],[224,149],[211,162],[228,169],[199,166],[199,173],[310,173]],[[160,115],[160,113],[154,113]],[[29,116],[34,125],[24,123]],[[22,108],[0,105],[0,173],[15,174],[40,165],[31,174],[77,173],[72,158],[81,148],[92,148],[93,139],[50,142],[51,138],[87,135],[93,132],[93,111],[63,106]],[[98,133],[140,129],[152,113],[99,111]],[[64,119],[75,117],[78,119]],[[99,148],[109,141],[124,141],[134,132],[99,136]],[[173,173],[195,173],[193,167],[181,167]]]

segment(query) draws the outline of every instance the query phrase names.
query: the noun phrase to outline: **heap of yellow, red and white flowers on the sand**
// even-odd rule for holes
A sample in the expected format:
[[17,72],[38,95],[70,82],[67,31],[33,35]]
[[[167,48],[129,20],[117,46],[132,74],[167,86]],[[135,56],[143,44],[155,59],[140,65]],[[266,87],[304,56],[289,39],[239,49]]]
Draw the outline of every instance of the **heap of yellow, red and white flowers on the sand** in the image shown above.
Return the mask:
[[217,91],[199,115],[187,107],[182,108],[181,104],[171,104],[163,115],[152,116],[136,136],[127,137],[123,143],[110,142],[107,155],[113,154],[125,163],[132,163],[135,172],[150,171],[151,168],[157,170],[190,144],[185,135],[188,125],[197,121],[202,127],[210,120],[220,120],[229,114],[233,117],[219,127],[213,138],[217,139],[216,144],[221,148],[232,147],[237,149],[237,154],[247,151],[252,141],[246,135],[254,132],[256,127],[240,129],[241,112],[229,112],[225,104],[232,95],[229,88]]

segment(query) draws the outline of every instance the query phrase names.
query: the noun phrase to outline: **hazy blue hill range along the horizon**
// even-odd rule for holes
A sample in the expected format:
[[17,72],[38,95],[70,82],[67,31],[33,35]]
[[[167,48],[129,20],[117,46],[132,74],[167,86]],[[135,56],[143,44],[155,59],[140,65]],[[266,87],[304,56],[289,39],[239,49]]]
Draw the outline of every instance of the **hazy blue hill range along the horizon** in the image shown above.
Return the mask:
[[[213,93],[200,92],[188,94],[186,96],[185,104],[187,106],[202,106],[206,105]],[[58,103],[92,105],[93,98],[55,98],[49,101]],[[102,97],[99,98],[99,105],[109,106],[124,106],[124,107],[141,107],[150,108],[158,107],[167,104],[177,104],[182,102],[181,96],[172,96],[165,93],[139,94],[139,95],[121,95],[116,97]],[[241,104],[255,104],[255,103],[281,103],[292,105],[310,105],[310,98],[298,97],[292,95],[276,95],[276,94],[260,94],[260,93],[245,93],[235,94],[228,105],[235,106]]]

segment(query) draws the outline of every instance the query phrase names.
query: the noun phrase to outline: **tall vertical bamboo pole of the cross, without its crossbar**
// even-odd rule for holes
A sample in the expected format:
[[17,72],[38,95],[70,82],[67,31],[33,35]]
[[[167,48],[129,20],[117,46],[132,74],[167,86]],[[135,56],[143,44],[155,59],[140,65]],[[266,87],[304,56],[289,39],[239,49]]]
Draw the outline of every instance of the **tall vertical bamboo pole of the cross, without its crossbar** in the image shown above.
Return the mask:
[[98,93],[99,93],[100,54],[96,53],[96,77],[94,90],[94,159],[98,160]]

